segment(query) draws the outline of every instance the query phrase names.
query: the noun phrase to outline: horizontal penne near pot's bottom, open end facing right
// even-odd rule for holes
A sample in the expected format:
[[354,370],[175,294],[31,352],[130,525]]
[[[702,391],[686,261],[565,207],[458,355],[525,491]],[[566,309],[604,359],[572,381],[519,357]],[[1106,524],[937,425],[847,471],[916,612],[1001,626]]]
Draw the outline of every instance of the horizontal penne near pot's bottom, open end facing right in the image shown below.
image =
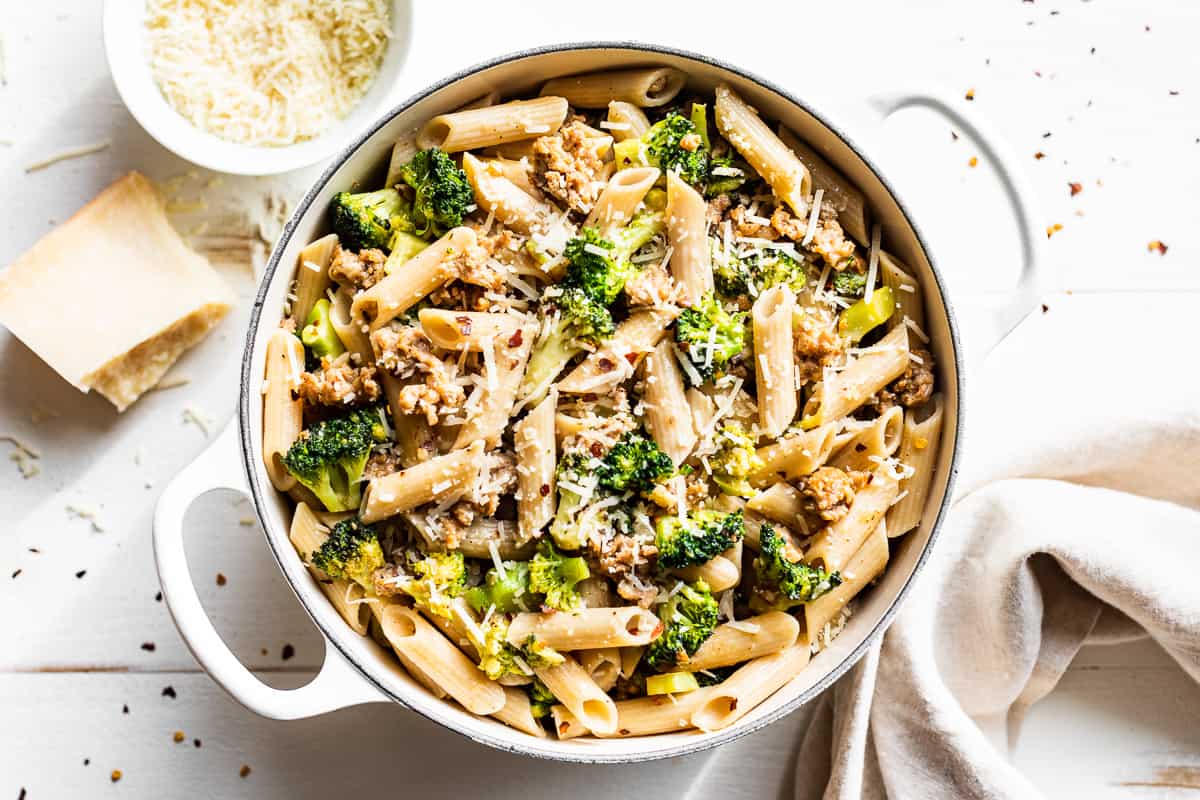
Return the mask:
[[530,636],[556,650],[592,650],[649,644],[662,632],[659,618],[637,606],[581,608],[550,614],[517,614],[509,624],[509,644]]

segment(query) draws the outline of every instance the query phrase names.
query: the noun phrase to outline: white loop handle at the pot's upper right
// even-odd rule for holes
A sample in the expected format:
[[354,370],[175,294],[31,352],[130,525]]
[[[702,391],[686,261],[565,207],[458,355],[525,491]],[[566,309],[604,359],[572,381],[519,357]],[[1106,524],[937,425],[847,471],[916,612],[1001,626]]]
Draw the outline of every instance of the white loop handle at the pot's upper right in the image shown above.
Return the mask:
[[866,102],[877,125],[904,108],[928,108],[941,114],[974,140],[980,154],[992,163],[1000,176],[1020,231],[1021,272],[1007,293],[967,295],[960,299],[967,311],[964,314],[967,351],[972,356],[984,356],[1033,311],[1045,288],[1045,237],[1038,230],[1042,215],[1038,212],[1037,196],[1024,170],[1016,166],[1016,158],[1008,145],[985,120],[967,107],[966,101],[944,90],[895,89],[871,95]]

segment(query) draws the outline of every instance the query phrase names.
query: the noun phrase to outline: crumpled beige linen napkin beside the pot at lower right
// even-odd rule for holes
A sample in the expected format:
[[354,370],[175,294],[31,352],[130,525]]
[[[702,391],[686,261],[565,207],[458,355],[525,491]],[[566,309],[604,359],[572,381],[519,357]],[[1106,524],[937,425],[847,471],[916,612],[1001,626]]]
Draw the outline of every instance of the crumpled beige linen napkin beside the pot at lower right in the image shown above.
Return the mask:
[[1200,681],[1200,357],[1163,297],[1051,300],[968,374],[956,503],[797,800],[1039,796],[1008,752],[1085,643],[1148,634]]

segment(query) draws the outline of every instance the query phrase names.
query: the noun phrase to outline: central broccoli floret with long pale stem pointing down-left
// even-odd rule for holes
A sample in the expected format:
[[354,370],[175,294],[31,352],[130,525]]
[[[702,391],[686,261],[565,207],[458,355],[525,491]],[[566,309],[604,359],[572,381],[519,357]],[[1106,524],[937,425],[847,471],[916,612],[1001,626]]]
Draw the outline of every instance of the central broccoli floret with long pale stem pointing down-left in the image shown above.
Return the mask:
[[530,398],[530,403],[545,396],[568,361],[586,345],[599,345],[616,327],[608,309],[578,287],[568,287],[562,293],[556,290],[554,295],[545,297],[542,313],[554,314],[556,320],[534,345],[521,383],[521,397]]

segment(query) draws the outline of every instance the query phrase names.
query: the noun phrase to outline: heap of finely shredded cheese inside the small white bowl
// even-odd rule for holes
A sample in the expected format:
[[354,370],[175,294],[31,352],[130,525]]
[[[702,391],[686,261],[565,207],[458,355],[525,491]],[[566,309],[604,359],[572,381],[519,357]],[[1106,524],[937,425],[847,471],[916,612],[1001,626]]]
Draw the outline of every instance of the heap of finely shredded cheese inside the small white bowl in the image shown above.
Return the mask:
[[196,127],[286,146],[362,100],[391,38],[385,0],[148,0],[148,60]]

